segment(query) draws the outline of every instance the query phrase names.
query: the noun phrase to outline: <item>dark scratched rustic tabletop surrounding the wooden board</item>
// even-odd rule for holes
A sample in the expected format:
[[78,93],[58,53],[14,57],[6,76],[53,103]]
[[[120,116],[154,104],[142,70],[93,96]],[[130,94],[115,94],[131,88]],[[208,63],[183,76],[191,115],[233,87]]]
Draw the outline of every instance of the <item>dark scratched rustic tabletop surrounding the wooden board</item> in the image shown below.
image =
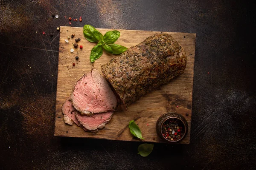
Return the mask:
[[[0,169],[252,170],[255,9],[242,0],[1,0]],[[141,142],[54,136],[64,16],[82,16],[76,27],[197,34],[190,144],[155,144],[143,158]]]

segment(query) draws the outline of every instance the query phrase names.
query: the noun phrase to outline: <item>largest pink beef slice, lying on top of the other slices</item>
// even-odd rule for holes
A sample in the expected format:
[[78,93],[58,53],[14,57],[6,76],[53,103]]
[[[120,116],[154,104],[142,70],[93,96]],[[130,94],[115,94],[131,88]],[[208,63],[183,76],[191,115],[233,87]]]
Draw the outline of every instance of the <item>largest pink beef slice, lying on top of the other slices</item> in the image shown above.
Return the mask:
[[116,108],[115,94],[105,77],[96,69],[84,74],[76,82],[70,98],[74,108],[82,115],[114,111]]

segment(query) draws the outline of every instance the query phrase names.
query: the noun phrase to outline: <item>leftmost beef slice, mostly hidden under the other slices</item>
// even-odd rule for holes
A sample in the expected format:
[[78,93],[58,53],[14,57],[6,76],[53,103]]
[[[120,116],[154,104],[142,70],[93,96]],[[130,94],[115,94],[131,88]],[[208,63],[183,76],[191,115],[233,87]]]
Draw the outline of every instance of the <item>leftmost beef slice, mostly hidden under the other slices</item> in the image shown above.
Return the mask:
[[66,102],[62,105],[62,113],[64,114],[64,122],[68,125],[73,125],[75,122],[76,125],[82,126],[79,121],[76,119],[75,113],[78,113],[73,107],[70,99],[67,99]]

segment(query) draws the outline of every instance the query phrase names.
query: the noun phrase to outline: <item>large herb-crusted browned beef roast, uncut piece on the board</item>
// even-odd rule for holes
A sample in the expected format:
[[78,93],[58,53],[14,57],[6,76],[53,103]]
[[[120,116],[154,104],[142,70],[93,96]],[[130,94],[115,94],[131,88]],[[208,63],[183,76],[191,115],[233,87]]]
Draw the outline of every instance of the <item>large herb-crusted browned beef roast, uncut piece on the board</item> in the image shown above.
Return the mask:
[[148,91],[183,74],[186,53],[169,34],[154,34],[102,65],[102,73],[128,107]]

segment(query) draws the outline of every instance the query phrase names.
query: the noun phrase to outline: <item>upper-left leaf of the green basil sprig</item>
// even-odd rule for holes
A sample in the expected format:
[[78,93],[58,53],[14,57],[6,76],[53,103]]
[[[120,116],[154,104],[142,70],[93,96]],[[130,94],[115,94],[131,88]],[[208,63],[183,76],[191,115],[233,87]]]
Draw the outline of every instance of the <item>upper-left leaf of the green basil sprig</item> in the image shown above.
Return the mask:
[[98,42],[103,39],[103,35],[90,25],[84,25],[83,33],[84,37],[90,42]]

